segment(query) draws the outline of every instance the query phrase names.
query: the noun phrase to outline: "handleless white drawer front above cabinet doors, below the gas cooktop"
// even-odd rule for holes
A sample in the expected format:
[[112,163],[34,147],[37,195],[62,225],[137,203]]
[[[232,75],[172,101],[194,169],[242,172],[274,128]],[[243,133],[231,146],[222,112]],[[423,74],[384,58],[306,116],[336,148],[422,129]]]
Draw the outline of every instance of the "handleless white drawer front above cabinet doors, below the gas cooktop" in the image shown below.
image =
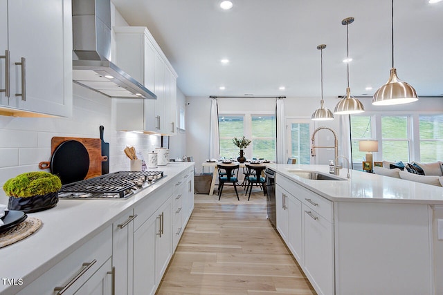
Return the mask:
[[143,198],[143,201],[140,204],[136,205],[134,208],[134,214],[137,214],[137,218],[134,219],[134,231],[143,225],[143,222],[148,220],[148,218],[150,218],[150,216],[152,216],[152,214],[159,209],[161,204],[170,198],[171,192],[171,186],[166,184],[160,189],[150,193],[148,196]]

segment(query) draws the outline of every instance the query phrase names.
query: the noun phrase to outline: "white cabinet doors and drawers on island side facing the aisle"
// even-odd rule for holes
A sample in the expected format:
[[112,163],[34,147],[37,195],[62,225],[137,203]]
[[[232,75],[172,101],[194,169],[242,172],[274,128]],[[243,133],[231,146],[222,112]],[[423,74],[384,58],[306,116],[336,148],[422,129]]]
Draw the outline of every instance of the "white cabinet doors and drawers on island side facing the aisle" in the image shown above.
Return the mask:
[[[334,294],[333,204],[276,176],[277,229],[318,294]],[[291,193],[289,193],[289,191]]]

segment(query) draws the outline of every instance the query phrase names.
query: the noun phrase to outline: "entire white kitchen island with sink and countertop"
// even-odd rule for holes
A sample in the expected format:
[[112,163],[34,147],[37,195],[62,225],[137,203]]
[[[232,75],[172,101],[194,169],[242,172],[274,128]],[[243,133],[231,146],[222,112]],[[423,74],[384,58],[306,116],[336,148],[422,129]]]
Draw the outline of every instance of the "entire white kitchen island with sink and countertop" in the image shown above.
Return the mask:
[[[276,173],[277,229],[318,294],[443,294],[443,187],[329,166]],[[333,178],[335,175],[332,175]],[[440,222],[439,222],[440,220]]]

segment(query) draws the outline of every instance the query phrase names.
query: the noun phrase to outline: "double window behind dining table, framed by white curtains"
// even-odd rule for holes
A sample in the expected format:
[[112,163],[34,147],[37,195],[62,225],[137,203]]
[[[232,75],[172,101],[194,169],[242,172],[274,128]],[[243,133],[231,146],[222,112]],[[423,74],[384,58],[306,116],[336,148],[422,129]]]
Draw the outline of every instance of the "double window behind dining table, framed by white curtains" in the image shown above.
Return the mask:
[[219,114],[220,157],[236,159],[239,149],[233,144],[233,138],[244,136],[252,141],[246,148],[246,158],[275,161],[275,133],[275,115]]

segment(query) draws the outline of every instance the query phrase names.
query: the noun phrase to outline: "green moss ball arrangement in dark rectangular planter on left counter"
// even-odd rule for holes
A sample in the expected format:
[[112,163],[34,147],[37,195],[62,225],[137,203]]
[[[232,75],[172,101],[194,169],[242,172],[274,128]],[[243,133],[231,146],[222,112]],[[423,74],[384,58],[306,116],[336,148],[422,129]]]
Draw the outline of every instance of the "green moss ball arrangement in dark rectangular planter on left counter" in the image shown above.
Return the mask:
[[27,172],[11,178],[3,185],[10,196],[8,209],[26,213],[46,210],[58,202],[62,182],[58,176],[48,172]]

